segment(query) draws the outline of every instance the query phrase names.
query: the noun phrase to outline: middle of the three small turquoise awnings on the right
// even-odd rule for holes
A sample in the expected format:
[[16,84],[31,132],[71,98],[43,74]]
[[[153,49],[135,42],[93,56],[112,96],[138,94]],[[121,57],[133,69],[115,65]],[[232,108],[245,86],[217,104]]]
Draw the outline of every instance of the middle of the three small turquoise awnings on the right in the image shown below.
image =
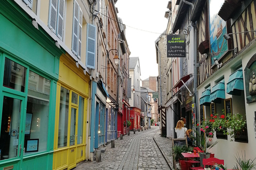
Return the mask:
[[221,103],[221,99],[225,99],[225,82],[224,79],[212,87],[210,101]]

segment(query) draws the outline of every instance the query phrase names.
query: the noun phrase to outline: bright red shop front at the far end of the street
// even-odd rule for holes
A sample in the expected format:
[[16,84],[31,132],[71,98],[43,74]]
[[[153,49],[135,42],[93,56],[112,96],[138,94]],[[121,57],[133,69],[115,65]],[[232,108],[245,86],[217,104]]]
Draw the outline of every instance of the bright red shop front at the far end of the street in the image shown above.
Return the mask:
[[140,127],[140,112],[141,109],[137,107],[130,107],[130,122],[132,123],[130,130],[137,130]]

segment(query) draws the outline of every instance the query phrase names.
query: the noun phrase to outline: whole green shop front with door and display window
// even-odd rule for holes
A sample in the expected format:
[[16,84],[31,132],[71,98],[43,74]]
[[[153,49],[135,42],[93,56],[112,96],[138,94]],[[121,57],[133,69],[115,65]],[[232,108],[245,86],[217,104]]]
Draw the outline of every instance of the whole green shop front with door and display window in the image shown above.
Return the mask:
[[12,3],[0,5],[0,169],[52,169],[62,52]]

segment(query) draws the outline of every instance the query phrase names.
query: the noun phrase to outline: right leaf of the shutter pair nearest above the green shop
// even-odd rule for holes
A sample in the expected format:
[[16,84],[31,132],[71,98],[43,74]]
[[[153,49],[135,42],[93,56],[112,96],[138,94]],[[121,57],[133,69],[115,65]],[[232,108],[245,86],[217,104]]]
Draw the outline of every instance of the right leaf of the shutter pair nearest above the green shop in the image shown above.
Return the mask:
[[63,38],[63,25],[64,25],[64,11],[65,11],[65,0],[59,0],[58,9],[58,24],[57,24],[57,36],[62,40]]

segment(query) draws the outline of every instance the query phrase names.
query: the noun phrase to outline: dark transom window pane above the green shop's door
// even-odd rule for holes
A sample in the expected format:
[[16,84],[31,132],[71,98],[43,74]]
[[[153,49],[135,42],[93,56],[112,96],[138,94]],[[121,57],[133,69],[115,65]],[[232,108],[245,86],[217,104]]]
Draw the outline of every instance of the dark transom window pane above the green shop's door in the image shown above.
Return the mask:
[[26,70],[22,65],[11,61],[9,58],[5,58],[3,86],[24,92]]

